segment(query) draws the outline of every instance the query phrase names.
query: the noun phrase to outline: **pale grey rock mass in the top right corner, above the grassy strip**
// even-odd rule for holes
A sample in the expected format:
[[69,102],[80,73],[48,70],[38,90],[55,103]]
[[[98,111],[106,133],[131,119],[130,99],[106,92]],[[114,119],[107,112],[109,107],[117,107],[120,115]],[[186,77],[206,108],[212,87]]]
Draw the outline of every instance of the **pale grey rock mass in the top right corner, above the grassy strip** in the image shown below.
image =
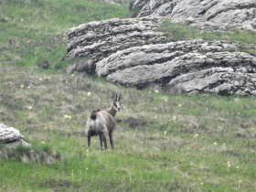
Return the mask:
[[195,27],[241,28],[256,32],[255,0],[136,0],[137,16],[168,16],[175,22],[193,18]]

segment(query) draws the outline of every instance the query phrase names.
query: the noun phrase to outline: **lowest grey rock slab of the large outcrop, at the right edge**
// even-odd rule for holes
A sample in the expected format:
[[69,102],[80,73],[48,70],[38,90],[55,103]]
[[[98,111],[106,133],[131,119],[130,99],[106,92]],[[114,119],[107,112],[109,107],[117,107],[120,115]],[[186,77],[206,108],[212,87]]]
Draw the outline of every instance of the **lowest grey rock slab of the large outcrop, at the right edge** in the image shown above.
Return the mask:
[[241,73],[232,68],[211,68],[189,72],[181,75],[168,84],[171,92],[186,91],[188,93],[208,91],[220,95],[238,94],[242,96],[256,96],[256,75]]

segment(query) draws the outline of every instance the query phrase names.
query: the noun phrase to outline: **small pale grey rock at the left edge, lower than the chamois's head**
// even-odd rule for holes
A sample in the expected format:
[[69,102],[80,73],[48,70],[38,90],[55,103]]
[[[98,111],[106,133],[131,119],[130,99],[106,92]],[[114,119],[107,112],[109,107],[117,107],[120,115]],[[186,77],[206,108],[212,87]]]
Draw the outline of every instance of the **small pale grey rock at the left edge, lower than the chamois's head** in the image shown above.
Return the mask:
[[22,144],[31,147],[31,144],[27,144],[23,139],[24,136],[14,127],[9,127],[4,123],[0,123],[0,144],[8,144],[9,146]]

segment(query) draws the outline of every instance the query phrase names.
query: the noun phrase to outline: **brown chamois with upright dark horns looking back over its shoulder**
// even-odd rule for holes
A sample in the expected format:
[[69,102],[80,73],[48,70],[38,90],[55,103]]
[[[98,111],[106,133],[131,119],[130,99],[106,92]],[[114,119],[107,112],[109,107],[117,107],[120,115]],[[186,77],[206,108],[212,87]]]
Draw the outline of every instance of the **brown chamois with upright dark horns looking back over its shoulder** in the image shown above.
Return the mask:
[[88,147],[91,146],[91,136],[100,136],[101,149],[104,143],[105,150],[107,149],[107,135],[110,137],[110,143],[113,147],[112,133],[115,128],[114,116],[116,112],[121,110],[123,96],[120,94],[117,98],[117,94],[112,95],[112,106],[107,110],[94,110],[88,118],[87,122],[87,136]]

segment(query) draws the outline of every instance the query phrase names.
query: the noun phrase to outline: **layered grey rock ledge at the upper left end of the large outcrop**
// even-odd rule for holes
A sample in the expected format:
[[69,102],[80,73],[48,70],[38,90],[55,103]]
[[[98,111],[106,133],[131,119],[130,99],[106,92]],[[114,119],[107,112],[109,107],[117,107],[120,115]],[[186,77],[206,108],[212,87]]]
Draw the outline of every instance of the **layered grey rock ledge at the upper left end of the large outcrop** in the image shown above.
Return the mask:
[[113,18],[69,29],[68,53],[65,59],[79,57],[84,60],[73,63],[67,72],[82,69],[93,72],[91,63],[104,59],[117,50],[165,42],[164,34],[156,30],[161,19],[161,17]]

